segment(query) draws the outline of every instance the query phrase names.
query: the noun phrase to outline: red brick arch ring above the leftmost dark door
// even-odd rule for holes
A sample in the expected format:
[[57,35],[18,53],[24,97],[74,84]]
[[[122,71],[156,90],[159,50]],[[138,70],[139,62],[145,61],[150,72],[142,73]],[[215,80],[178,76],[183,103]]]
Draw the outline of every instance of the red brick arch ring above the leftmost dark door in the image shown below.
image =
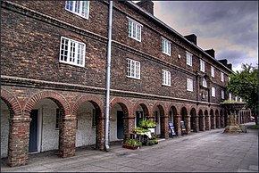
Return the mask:
[[49,98],[54,101],[60,108],[63,108],[64,116],[70,115],[70,104],[67,102],[67,100],[63,97],[63,95],[56,93],[54,91],[42,91],[35,95],[32,95],[28,102],[24,106],[24,111],[30,112],[33,108],[33,106],[38,103],[41,99]]

